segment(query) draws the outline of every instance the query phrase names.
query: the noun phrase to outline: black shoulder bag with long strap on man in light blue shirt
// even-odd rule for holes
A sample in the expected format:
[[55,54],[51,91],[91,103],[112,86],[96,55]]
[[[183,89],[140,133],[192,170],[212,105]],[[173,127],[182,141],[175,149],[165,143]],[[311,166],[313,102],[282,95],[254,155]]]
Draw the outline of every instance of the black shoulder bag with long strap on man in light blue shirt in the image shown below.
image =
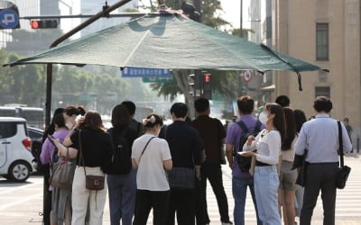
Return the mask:
[[348,175],[351,172],[351,168],[349,166],[344,165],[344,148],[343,148],[343,142],[342,142],[342,127],[341,127],[340,121],[338,121],[338,142],[339,142],[338,151],[339,151],[340,165],[338,166],[336,187],[338,189],[343,189],[343,188],[345,188]]

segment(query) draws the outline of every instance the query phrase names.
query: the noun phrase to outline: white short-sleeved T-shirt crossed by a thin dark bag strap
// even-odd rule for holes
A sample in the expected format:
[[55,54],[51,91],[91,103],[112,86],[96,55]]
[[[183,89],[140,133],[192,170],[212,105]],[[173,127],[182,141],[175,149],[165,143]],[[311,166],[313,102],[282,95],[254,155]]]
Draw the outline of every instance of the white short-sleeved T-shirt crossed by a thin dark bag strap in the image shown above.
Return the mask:
[[134,140],[132,158],[138,164],[136,186],[140,190],[168,191],[170,186],[163,167],[163,161],[171,159],[168,142],[165,139],[152,139],[141,157],[143,148],[153,137],[151,134],[144,134]]

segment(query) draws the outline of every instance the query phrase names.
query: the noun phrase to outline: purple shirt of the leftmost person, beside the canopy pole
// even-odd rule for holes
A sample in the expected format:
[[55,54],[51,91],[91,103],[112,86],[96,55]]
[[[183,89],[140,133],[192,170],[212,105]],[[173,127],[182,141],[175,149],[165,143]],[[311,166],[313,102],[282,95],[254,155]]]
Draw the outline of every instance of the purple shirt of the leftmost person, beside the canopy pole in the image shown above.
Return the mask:
[[[55,131],[52,136],[54,136],[55,139],[60,139],[60,142],[64,141],[64,139],[69,134],[69,130],[59,130]],[[42,161],[42,164],[49,164],[52,163],[52,156],[54,154],[54,145],[51,143],[49,139],[45,139],[44,143],[42,144],[42,153],[40,155],[40,160]],[[52,191],[53,187],[50,186],[49,190]]]

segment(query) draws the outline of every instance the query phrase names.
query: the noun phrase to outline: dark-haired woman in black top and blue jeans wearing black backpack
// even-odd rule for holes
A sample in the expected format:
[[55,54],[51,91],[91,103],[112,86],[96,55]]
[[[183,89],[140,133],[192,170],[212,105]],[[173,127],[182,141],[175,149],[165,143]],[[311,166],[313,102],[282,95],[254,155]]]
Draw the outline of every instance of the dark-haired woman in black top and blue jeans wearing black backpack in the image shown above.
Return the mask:
[[[107,173],[107,187],[109,191],[110,224],[131,225],[135,208],[135,175],[132,171],[132,145],[138,133],[129,127],[131,115],[124,104],[117,104],[112,111],[113,128],[107,130],[113,139],[114,148],[119,152],[119,166]],[[121,146],[121,147],[120,147]],[[121,157],[120,157],[121,156]]]

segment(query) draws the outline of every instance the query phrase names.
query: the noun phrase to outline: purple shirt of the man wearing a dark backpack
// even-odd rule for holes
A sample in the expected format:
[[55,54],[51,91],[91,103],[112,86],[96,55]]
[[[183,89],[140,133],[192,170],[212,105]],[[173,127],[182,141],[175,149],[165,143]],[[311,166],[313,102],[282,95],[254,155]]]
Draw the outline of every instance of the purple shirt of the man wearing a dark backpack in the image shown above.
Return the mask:
[[[255,123],[257,119],[252,114],[246,114],[241,116],[241,121],[245,122],[245,126],[248,128],[248,130],[254,130],[255,129]],[[265,126],[262,124],[261,130],[264,130]],[[239,144],[241,141],[241,136],[244,135],[243,130],[241,127],[236,124],[236,122],[231,123],[228,126],[227,130],[227,137],[226,137],[226,144],[232,145],[234,149],[239,149]],[[248,172],[243,173],[236,162],[236,158],[233,160],[232,164],[232,175],[238,177],[238,178],[248,178],[251,177],[251,175]]]

